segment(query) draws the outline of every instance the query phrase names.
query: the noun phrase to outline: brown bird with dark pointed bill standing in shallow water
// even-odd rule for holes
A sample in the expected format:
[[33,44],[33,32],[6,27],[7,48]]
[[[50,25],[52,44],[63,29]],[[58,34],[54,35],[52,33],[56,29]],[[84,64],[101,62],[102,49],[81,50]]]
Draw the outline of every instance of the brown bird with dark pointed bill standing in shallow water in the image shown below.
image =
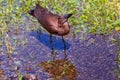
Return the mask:
[[66,56],[66,45],[63,36],[67,35],[70,31],[70,25],[67,21],[68,18],[72,16],[72,14],[59,16],[57,14],[53,14],[39,4],[36,4],[35,9],[31,10],[29,14],[35,17],[42,25],[42,27],[50,33],[50,46],[52,49],[52,54],[54,53],[54,48],[52,46],[52,34],[62,36],[64,43],[64,53]]

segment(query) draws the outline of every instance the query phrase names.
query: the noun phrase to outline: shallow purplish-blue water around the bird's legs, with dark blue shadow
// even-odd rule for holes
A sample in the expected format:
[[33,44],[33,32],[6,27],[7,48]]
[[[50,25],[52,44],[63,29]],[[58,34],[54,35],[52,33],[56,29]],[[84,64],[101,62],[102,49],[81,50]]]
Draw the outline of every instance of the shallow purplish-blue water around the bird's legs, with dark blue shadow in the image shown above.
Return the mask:
[[[8,66],[7,55],[0,54],[0,61],[2,62],[0,69],[4,70],[5,75],[13,76],[16,74],[15,67],[18,66],[21,74],[37,75],[38,80],[54,80],[53,74],[46,72],[46,67],[38,66],[42,62],[52,61],[49,34],[42,32],[41,36],[39,36],[39,31],[35,30],[19,35],[24,35],[28,39],[28,43],[24,47],[18,48],[15,51],[17,54],[12,54],[11,67]],[[115,52],[117,48],[115,45],[110,46],[109,37],[106,36],[106,42],[100,35],[96,38],[97,42],[94,42],[93,35],[89,35],[86,40],[79,40],[79,35],[76,38],[73,38],[71,34],[65,37],[67,45],[66,60],[74,66],[77,72],[77,77],[73,79],[118,80],[115,73],[118,68],[115,61],[117,59],[117,53]],[[61,37],[53,36],[53,41],[53,47],[57,51],[55,60],[61,61],[64,59]],[[55,69],[57,70],[57,68]],[[67,80],[66,77],[63,77],[63,80]]]

